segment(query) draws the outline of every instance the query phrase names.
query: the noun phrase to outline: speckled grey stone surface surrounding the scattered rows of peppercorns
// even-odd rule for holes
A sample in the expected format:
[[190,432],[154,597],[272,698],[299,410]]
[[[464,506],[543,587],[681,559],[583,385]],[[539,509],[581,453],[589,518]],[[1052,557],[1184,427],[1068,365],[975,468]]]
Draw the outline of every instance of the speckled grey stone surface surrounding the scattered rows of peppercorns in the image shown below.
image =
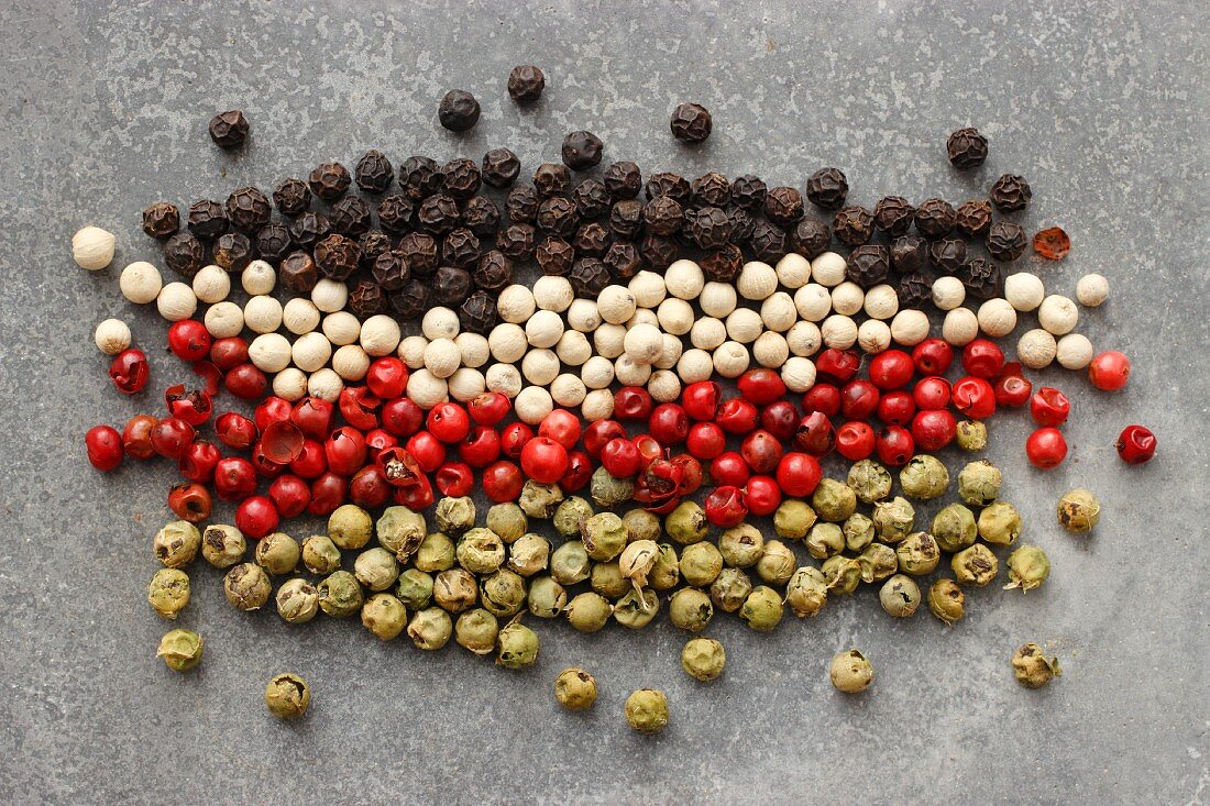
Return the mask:
[[[249,802],[1168,802],[1210,800],[1210,629],[1204,313],[1208,288],[1205,30],[1199,4],[783,2],[0,4],[0,801]],[[535,62],[549,85],[532,110],[503,91]],[[483,120],[466,137],[436,125],[450,87]],[[698,150],[667,132],[698,100],[715,131]],[[221,109],[247,110],[249,148],[206,137]],[[987,166],[952,172],[944,138],[976,125]],[[1054,574],[1027,597],[984,589],[944,629],[886,617],[866,592],[814,621],[754,635],[732,617],[711,633],[725,678],[696,685],[667,624],[582,637],[542,624],[522,674],[457,647],[382,645],[356,623],[289,629],[221,600],[198,569],[184,626],[206,661],[178,677],[156,661],[165,623],[143,603],[149,539],[168,470],[91,471],[81,434],[155,408],[184,380],[161,355],[163,323],[117,290],[117,269],[155,259],[139,232],[150,201],[264,188],[367,148],[478,157],[508,144],[526,168],[588,127],[606,161],[686,175],[756,171],[799,184],[823,165],[852,197],[953,201],[1004,171],[1028,177],[1028,228],[1059,223],[1074,248],[1032,265],[1071,293],[1102,271],[1111,301],[1081,330],[1135,359],[1128,391],[1077,375],[1043,380],[1074,399],[1072,456],[1024,462],[1026,418],[993,422],[990,456],[1027,513]],[[117,234],[115,267],[76,269],[80,225]],[[1027,260],[1022,260],[1022,264]],[[155,353],[155,390],[120,399],[92,346],[94,324],[128,319]],[[1159,459],[1129,470],[1118,430],[1150,424]],[[956,461],[956,457],[953,457]],[[1105,502],[1090,539],[1050,516],[1062,489]],[[1038,640],[1066,674],[1030,692],[1008,656]],[[874,687],[828,685],[832,652],[859,645]],[[592,669],[601,698],[560,713],[551,681]],[[313,684],[310,716],[282,725],[261,690],[293,669]],[[626,692],[668,691],[657,739],[621,721]]]

